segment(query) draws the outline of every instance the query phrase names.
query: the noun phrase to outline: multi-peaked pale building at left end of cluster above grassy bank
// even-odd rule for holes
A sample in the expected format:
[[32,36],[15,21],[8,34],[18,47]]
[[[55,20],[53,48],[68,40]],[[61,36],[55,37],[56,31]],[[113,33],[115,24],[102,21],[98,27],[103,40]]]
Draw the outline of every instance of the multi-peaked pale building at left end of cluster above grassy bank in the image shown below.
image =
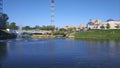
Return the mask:
[[87,28],[88,29],[100,29],[101,24],[102,24],[101,20],[90,19],[90,22],[87,24]]

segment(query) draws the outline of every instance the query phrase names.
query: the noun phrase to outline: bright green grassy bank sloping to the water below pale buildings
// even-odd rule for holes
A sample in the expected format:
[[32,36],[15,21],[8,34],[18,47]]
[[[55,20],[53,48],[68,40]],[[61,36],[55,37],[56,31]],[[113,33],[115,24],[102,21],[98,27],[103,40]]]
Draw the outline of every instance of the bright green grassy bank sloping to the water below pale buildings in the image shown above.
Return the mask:
[[120,39],[120,30],[88,30],[77,32],[75,39]]

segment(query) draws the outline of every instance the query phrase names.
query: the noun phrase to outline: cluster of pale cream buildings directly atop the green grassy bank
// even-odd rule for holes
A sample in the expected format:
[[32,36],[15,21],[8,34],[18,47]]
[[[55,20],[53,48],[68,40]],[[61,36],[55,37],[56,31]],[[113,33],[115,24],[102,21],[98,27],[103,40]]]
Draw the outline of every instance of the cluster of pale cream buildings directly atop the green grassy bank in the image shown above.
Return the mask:
[[88,29],[101,29],[101,26],[104,26],[104,29],[107,29],[107,24],[110,25],[109,29],[120,29],[120,20],[111,20],[107,22],[102,22],[101,20],[91,19],[87,25]]

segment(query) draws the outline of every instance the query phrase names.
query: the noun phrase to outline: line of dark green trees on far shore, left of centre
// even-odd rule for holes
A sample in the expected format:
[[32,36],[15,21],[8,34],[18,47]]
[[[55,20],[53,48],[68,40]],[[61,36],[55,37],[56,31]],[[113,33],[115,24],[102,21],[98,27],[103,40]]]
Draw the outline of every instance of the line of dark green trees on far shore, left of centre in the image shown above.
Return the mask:
[[[8,22],[8,15],[5,13],[0,13],[0,29],[14,29],[18,30],[20,29],[20,26],[18,26],[15,22]],[[38,26],[36,25],[35,27],[30,27],[30,26],[23,26],[23,30],[54,30],[58,29],[55,26]]]

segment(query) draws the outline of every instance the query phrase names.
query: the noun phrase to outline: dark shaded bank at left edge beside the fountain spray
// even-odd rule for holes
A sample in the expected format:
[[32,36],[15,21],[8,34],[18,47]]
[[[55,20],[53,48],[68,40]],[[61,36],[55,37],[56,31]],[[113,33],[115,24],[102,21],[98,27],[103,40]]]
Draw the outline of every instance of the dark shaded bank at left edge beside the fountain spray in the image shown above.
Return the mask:
[[16,38],[17,35],[13,33],[8,33],[4,30],[0,30],[0,40],[6,40],[6,39],[13,39]]

